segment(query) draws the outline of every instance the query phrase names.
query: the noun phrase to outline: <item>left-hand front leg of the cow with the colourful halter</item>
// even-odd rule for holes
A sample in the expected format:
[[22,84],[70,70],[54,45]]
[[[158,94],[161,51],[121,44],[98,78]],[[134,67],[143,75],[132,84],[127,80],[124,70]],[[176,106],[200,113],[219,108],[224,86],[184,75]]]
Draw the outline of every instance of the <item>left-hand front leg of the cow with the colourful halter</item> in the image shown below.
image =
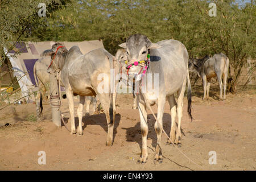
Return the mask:
[[[138,96],[140,97],[140,96]],[[142,147],[141,147],[141,156],[138,160],[138,163],[146,163],[147,162],[147,111],[146,105],[144,103],[139,102],[139,98],[137,97],[137,104],[139,109],[139,117],[141,118],[141,135],[142,135]]]

